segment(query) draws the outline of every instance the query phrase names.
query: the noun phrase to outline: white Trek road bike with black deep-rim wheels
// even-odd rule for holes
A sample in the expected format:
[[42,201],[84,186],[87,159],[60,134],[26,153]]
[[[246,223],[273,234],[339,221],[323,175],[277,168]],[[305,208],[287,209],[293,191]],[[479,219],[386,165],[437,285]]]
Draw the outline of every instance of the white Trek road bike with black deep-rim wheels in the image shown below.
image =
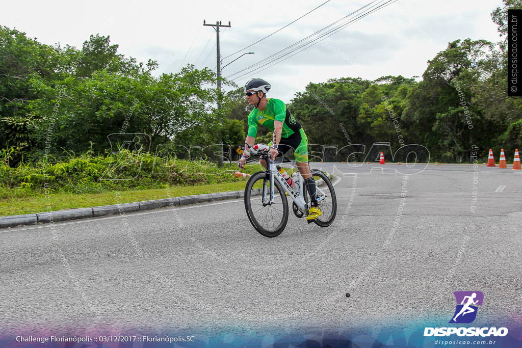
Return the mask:
[[[287,195],[293,201],[292,211],[298,218],[308,215],[311,206],[309,193],[304,185],[304,179],[298,173],[295,189],[283,178],[276,164],[268,155],[269,147],[264,144],[249,146],[251,155],[257,158],[246,163],[265,160],[266,170],[252,174],[245,187],[245,210],[248,220],[260,234],[275,237],[283,232],[288,222]],[[295,166],[294,162],[291,162]],[[311,170],[316,185],[316,198],[322,214],[314,222],[321,227],[327,227],[334,222],[337,214],[337,197],[334,186],[328,175],[319,170]]]

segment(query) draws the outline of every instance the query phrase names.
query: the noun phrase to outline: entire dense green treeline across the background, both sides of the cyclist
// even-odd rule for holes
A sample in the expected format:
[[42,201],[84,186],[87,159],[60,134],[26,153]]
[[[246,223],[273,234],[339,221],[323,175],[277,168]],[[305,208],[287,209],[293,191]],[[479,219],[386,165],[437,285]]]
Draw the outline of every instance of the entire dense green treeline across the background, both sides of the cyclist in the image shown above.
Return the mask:
[[[522,148],[522,105],[507,97],[508,8],[522,8],[522,0],[504,0],[493,11],[501,42],[450,42],[428,62],[420,82],[333,78],[310,83],[288,106],[315,144],[389,142],[393,150],[420,144],[432,161],[445,162],[471,161],[472,146],[482,158],[490,148],[504,148],[512,158]],[[78,50],[44,45],[2,26],[0,57],[0,148],[11,166],[108,153],[110,134],[146,134],[152,152],[159,144],[244,140],[250,111],[244,94],[218,94],[210,69],[187,65],[176,74],[155,74],[155,61],[142,64],[118,54],[109,37],[91,35]],[[258,130],[258,140],[270,138]]]

